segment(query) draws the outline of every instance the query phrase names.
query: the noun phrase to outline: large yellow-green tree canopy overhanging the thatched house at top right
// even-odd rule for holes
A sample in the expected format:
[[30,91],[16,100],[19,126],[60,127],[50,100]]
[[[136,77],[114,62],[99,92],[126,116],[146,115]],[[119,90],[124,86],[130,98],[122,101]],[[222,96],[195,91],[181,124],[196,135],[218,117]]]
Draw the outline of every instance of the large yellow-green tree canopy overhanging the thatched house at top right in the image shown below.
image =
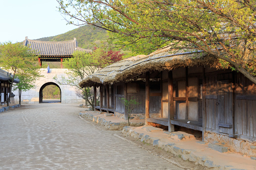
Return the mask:
[[146,53],[164,46],[205,52],[256,83],[254,1],[57,1],[68,24],[116,33],[121,46]]

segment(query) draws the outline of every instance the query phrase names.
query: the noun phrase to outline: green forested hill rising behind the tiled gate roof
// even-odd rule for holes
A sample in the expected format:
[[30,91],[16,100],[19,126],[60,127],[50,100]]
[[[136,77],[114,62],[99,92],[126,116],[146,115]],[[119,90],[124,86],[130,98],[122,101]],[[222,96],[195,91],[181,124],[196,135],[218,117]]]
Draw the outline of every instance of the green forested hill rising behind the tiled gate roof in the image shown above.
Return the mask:
[[83,49],[92,50],[95,44],[106,42],[108,39],[108,33],[106,30],[93,27],[91,25],[81,26],[77,29],[68,31],[64,34],[60,34],[52,37],[44,37],[37,40],[40,41],[68,41],[76,38],[78,47]]

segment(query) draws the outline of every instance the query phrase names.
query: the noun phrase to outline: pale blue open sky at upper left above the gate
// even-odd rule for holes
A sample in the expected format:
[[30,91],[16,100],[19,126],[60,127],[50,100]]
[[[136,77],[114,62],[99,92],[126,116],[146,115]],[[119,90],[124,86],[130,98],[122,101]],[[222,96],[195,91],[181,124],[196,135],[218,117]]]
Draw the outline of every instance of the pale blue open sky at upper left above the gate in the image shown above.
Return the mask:
[[66,25],[56,0],[0,0],[0,42],[56,36],[78,28]]

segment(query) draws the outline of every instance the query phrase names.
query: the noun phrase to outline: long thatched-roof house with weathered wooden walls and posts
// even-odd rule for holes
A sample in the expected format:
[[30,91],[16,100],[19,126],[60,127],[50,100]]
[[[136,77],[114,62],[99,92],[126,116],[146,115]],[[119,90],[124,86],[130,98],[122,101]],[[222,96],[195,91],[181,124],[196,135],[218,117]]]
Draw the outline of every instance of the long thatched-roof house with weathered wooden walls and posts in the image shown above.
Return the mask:
[[[118,117],[127,119],[121,99],[133,98],[140,103],[133,117],[144,117],[145,124],[162,125],[170,132],[202,131],[197,137],[232,148],[233,140],[256,142],[256,85],[203,52],[159,49],[107,66],[79,86],[100,86],[100,105],[95,102],[95,108]],[[246,149],[256,155],[249,145]],[[245,153],[240,147],[233,150]]]

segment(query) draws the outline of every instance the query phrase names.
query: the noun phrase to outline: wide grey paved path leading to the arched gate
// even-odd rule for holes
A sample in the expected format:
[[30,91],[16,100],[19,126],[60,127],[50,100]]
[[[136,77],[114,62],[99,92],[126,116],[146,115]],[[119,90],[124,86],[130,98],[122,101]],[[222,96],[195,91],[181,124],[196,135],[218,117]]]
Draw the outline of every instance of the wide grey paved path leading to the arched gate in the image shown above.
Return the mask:
[[0,113],[0,169],[182,169],[79,118],[78,104]]

